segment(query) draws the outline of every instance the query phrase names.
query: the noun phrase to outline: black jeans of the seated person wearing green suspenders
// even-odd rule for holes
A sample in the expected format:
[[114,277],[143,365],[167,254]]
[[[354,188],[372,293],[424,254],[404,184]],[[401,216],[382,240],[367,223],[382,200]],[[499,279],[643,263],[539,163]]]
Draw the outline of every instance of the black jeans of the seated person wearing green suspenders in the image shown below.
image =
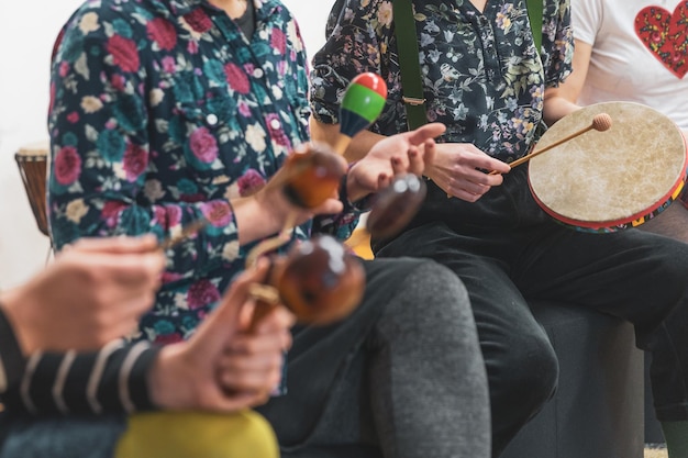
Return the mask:
[[636,230],[565,227],[534,202],[525,170],[518,167],[476,203],[447,199],[429,182],[409,228],[374,243],[379,257],[435,259],[466,286],[489,378],[492,455],[556,387],[556,357],[529,299],[577,303],[633,323],[637,346],[653,353],[657,417],[688,418],[688,245]]

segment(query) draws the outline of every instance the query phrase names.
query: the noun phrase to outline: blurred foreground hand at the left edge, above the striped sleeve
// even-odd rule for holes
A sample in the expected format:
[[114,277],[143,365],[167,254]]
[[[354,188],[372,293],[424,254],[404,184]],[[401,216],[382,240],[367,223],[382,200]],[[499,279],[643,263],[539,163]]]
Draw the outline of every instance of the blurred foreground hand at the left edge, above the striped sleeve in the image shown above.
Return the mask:
[[22,351],[95,349],[153,304],[165,257],[155,236],[82,238],[0,298]]

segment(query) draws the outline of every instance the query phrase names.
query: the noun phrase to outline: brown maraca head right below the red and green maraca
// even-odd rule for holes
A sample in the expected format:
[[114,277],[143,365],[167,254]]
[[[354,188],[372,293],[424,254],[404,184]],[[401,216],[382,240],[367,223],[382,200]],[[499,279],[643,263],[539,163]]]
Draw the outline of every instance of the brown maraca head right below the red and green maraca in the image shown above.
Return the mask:
[[291,203],[314,209],[333,197],[346,174],[346,161],[324,143],[307,143],[285,161],[285,194]]

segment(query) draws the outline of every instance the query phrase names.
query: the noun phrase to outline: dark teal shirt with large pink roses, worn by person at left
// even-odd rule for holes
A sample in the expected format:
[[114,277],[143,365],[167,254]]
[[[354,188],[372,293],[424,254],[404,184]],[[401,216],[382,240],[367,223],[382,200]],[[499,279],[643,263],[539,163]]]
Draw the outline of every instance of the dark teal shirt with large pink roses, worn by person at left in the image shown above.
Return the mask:
[[[308,68],[297,23],[254,0],[248,40],[206,0],[89,0],[68,21],[52,67],[48,212],[59,248],[81,236],[211,224],[168,250],[141,334],[188,337],[244,269],[230,199],[263,186],[309,138]],[[351,233],[357,213],[315,221]],[[310,236],[311,224],[293,232]]]

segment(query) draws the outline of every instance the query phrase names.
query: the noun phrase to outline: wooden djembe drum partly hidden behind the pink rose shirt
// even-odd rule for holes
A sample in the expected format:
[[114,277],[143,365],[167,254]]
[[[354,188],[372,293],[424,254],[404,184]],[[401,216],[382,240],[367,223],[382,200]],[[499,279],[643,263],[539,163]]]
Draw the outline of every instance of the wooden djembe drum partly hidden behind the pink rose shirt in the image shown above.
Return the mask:
[[38,142],[21,147],[14,159],[29,197],[31,210],[38,225],[38,230],[49,237],[46,211],[45,182],[47,178],[48,142]]

